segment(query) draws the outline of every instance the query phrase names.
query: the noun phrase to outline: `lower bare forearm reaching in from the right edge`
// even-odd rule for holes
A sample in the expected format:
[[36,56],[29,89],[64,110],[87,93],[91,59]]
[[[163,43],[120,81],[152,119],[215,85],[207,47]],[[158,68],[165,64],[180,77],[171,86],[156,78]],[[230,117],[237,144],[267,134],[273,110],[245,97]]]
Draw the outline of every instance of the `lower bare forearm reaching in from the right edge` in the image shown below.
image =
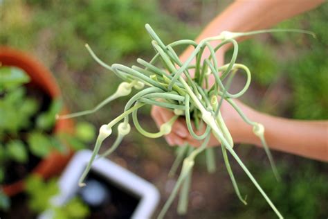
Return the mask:
[[[327,121],[283,119],[258,112],[253,116],[255,117],[253,121],[264,125],[264,135],[271,149],[328,161]],[[244,130],[242,139],[244,143],[261,146],[261,142],[255,137],[250,126]]]

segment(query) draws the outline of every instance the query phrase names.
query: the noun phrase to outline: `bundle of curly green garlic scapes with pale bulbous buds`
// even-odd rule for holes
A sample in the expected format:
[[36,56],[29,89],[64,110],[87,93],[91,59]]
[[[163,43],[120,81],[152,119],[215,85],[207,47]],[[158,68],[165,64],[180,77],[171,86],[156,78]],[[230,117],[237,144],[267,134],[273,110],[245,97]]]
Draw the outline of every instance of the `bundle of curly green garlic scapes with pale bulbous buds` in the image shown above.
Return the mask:
[[[102,103],[97,105],[94,109],[68,115],[61,115],[58,116],[57,119],[67,119],[91,114],[96,112],[101,107],[104,107],[104,105],[107,105],[112,100],[115,100],[116,98],[121,96],[128,96],[131,94],[132,88],[140,91],[138,91],[134,96],[130,98],[130,100],[125,105],[124,112],[122,112],[120,116],[117,116],[116,119],[113,119],[110,123],[101,126],[91,160],[89,161],[88,166],[80,178],[80,186],[84,185],[83,181],[87,173],[89,173],[93,161],[97,159],[97,157],[105,157],[110,155],[113,150],[118,148],[122,139],[127,134],[129,134],[131,130],[131,125],[129,124],[130,114],[132,115],[132,121],[138,132],[149,138],[158,138],[165,134],[169,134],[171,132],[174,121],[176,121],[179,116],[184,116],[190,134],[192,137],[194,137],[194,139],[202,141],[202,144],[199,148],[192,148],[191,146],[181,146],[179,148],[179,153],[177,155],[176,161],[172,166],[172,171],[170,171],[171,174],[174,173],[177,166],[179,166],[180,162],[186,154],[186,151],[188,150],[189,152],[183,159],[181,174],[177,179],[170,198],[167,200],[163,209],[161,210],[161,213],[158,215],[158,218],[163,218],[165,216],[167,209],[172,204],[179,189],[181,189],[181,196],[179,199],[178,211],[179,213],[185,213],[187,211],[190,177],[192,168],[194,166],[194,159],[197,157],[197,155],[205,151],[208,161],[208,170],[210,172],[215,170],[213,148],[208,147],[210,134],[213,134],[215,138],[217,138],[217,140],[221,143],[221,150],[223,153],[226,168],[230,175],[230,179],[233,182],[233,186],[239,200],[246,204],[246,200],[244,200],[242,195],[239,193],[235,177],[230,168],[227,150],[242,167],[246,175],[248,175],[250,180],[257,187],[259,192],[263,195],[264,199],[266,202],[268,202],[273,211],[275,211],[277,216],[282,218],[280,212],[276,209],[275,205],[271,202],[266,193],[264,193],[253,175],[243,164],[242,160],[239,159],[238,155],[233,149],[233,139],[228,128],[226,127],[224,119],[221,116],[220,107],[222,100],[226,100],[238,112],[238,114],[242,117],[242,119],[244,119],[246,123],[253,126],[253,132],[257,137],[259,137],[259,139],[261,139],[262,145],[264,146],[266,154],[268,155],[268,159],[271,163],[271,167],[273,168],[273,173],[278,179],[273,158],[264,139],[264,126],[262,124],[256,123],[255,121],[250,121],[250,119],[246,117],[246,115],[242,112],[241,109],[239,109],[233,100],[234,98],[239,98],[242,96],[250,85],[249,69],[244,64],[236,63],[238,44],[235,38],[246,35],[271,32],[297,32],[307,33],[310,35],[313,35],[313,33],[305,30],[293,29],[259,30],[248,33],[230,33],[224,31],[216,37],[208,37],[201,40],[199,44],[192,40],[178,40],[176,42],[172,42],[171,44],[165,45],[158,37],[158,35],[156,35],[154,30],[149,26],[149,24],[146,24],[145,27],[149,35],[152,37],[152,46],[156,51],[156,55],[154,55],[154,58],[152,58],[150,62],[146,62],[145,60],[139,58],[137,62],[140,64],[140,67],[126,67],[122,64],[112,64],[109,66],[102,62],[102,60],[100,60],[93,53],[90,47],[86,45],[86,49],[88,49],[89,53],[91,53],[92,57],[99,64],[101,64],[106,69],[113,71],[113,73],[115,73],[116,76],[121,78],[124,82],[118,86],[118,89],[114,94],[102,101]],[[213,48],[210,44],[212,41],[219,41],[220,43],[218,46]],[[233,44],[233,55],[228,64],[219,66],[217,60],[215,59],[215,53],[225,44]],[[181,62],[181,60],[179,60],[179,55],[177,55],[174,51],[176,46],[193,46],[194,51],[192,51],[188,60]],[[210,51],[210,56],[203,59],[202,55],[205,49]],[[192,64],[192,60],[196,60],[196,64]],[[230,94],[228,91],[229,82],[231,82],[233,76],[239,69],[246,73],[246,83],[237,94]],[[194,76],[191,76],[191,71],[194,71]],[[209,87],[207,81],[211,74],[215,77],[215,84]],[[224,86],[224,83],[222,82],[225,78],[228,78],[226,86]],[[204,84],[205,86],[203,86]],[[161,101],[158,101],[158,99],[161,99]],[[157,105],[167,109],[172,109],[175,116],[173,116],[170,121],[167,121],[167,123],[161,125],[159,132],[147,132],[141,127],[137,116],[138,109],[145,105]],[[203,132],[201,135],[197,135],[192,128],[192,122],[194,122],[194,125],[197,129],[202,125],[206,125],[205,132]],[[115,125],[117,125],[118,129],[118,136],[116,137],[116,141],[113,142],[111,148],[109,148],[103,154],[98,155],[102,141],[111,135],[112,129]]]

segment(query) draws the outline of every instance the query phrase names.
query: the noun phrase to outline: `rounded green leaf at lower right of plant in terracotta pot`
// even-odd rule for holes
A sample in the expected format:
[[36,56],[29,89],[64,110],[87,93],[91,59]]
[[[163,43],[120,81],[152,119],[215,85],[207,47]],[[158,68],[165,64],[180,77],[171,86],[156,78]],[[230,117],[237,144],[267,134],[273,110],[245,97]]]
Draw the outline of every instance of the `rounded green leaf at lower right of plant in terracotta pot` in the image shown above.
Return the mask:
[[37,157],[46,157],[51,152],[51,139],[42,132],[28,134],[30,152]]

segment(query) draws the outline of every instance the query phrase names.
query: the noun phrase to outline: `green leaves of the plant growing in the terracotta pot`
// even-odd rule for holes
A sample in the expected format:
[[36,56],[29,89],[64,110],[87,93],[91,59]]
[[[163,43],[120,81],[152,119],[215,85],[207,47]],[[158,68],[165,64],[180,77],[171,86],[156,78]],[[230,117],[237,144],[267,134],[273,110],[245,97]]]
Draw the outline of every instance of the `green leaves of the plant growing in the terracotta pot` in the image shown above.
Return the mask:
[[[15,67],[0,67],[1,81],[0,87],[0,142],[5,144],[1,147],[1,166],[6,166],[6,162],[13,160],[25,164],[28,161],[28,149],[24,141],[28,141],[30,152],[37,157],[44,157],[51,151],[51,140],[47,136],[48,128],[55,123],[57,109],[45,111],[46,116],[43,121],[47,127],[37,127],[34,118],[38,118],[42,103],[38,103],[35,96],[28,96],[24,85],[30,80],[28,75],[21,69]],[[42,116],[43,114],[40,114]],[[26,140],[26,130],[38,130],[35,133],[28,133]]]

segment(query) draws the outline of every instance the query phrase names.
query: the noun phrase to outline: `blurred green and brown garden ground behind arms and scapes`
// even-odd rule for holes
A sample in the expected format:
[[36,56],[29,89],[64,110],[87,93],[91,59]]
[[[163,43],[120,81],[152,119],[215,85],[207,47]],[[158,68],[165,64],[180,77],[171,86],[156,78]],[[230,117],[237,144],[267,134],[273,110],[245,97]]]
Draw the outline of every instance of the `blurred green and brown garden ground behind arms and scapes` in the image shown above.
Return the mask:
[[[208,21],[231,1],[0,1],[0,44],[35,55],[57,78],[71,112],[91,109],[115,91],[120,80],[100,67],[84,48],[88,43],[105,62],[135,64],[154,55],[145,24],[152,25],[165,43],[194,39]],[[328,119],[328,3],[279,24],[302,28],[317,35],[274,33],[242,42],[238,62],[253,73],[243,101],[256,109],[293,119]],[[238,86],[242,78],[237,78]],[[79,118],[97,128],[123,109],[127,98],[116,100],[100,112]],[[149,129],[149,109],[140,111]],[[111,145],[111,137],[103,148]],[[316,142],[313,142],[315,144]],[[93,145],[90,145],[93,148]],[[327,218],[328,165],[282,152],[273,157],[282,175],[276,182],[264,150],[236,147],[246,166],[286,218]],[[239,202],[226,173],[221,150],[217,172],[206,171],[204,157],[192,176],[190,207],[184,218],[275,218],[262,195],[232,160],[235,177],[248,205]],[[167,173],[174,148],[164,139],[147,139],[131,132],[110,156],[112,161],[154,183],[161,191],[161,206],[170,195],[174,179]],[[158,208],[160,209],[160,208]],[[178,218],[176,202],[167,218]]]

